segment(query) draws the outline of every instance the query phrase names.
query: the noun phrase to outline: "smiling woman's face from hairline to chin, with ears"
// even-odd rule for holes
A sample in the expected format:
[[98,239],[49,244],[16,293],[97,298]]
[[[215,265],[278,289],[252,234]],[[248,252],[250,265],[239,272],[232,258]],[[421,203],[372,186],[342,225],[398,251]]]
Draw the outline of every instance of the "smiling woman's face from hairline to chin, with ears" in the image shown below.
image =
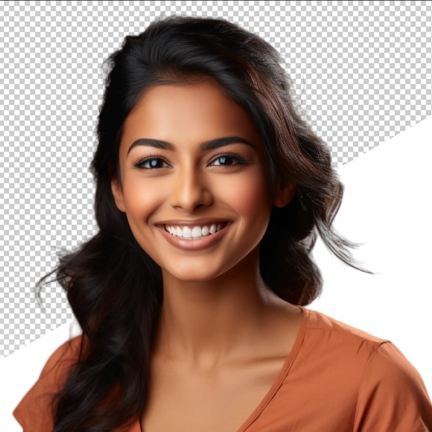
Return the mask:
[[117,207],[162,273],[185,282],[256,253],[286,195],[270,184],[251,117],[213,81],[146,90],[124,124],[119,164]]

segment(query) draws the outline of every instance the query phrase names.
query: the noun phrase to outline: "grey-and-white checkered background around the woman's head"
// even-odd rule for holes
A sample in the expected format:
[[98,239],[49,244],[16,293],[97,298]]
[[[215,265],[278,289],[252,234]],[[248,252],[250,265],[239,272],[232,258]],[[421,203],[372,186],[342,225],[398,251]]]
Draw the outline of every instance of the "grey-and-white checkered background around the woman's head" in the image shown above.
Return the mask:
[[0,355],[72,318],[56,283],[40,304],[35,285],[97,228],[88,166],[102,63],[170,14],[222,17],[271,42],[335,166],[432,115],[426,1],[2,2]]

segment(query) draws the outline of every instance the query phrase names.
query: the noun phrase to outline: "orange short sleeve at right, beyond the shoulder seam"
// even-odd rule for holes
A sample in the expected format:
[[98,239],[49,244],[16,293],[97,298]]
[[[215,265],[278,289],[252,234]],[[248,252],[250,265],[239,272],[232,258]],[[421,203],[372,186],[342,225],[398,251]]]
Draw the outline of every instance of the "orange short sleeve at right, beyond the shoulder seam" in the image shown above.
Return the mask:
[[366,363],[354,431],[432,431],[432,404],[424,382],[391,342],[378,346]]

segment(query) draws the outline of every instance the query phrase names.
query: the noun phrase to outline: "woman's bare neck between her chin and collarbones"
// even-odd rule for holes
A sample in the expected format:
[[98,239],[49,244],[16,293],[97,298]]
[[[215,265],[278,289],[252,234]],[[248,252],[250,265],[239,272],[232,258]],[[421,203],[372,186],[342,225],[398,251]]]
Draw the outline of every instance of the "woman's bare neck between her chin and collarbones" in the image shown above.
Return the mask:
[[164,302],[155,351],[195,364],[216,364],[244,352],[262,329],[273,297],[258,257],[205,282],[164,275]]

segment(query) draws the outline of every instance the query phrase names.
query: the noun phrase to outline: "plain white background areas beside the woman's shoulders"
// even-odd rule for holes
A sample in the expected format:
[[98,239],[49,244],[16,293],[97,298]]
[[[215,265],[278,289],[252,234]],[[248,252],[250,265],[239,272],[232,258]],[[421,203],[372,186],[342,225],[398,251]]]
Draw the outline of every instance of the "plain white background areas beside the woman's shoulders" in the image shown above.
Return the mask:
[[[340,168],[340,233],[364,244],[355,256],[377,275],[355,271],[314,250],[324,291],[309,306],[400,348],[432,393],[432,117]],[[50,353],[70,335],[65,324],[0,359],[0,429],[19,432],[12,410]]]

